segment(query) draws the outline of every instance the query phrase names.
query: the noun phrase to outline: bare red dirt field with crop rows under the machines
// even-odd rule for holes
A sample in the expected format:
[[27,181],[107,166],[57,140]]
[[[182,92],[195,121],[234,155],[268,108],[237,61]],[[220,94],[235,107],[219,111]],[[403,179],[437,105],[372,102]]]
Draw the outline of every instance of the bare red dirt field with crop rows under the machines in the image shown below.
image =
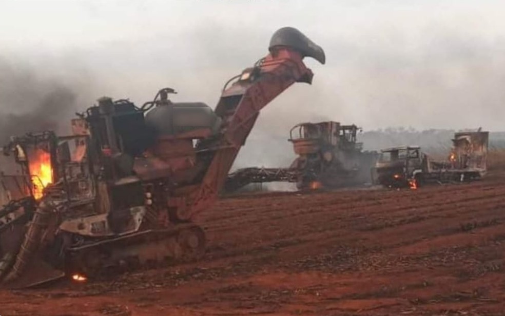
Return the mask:
[[223,199],[196,263],[1,291],[0,315],[504,315],[505,177]]

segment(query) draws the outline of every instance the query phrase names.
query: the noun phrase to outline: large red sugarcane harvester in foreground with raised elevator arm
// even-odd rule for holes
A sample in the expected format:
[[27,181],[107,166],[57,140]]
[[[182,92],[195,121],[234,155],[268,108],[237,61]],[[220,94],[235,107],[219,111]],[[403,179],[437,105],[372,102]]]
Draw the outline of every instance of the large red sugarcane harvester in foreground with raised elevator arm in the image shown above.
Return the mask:
[[214,111],[172,103],[166,88],[141,107],[101,98],[72,121],[71,136],[13,139],[6,149],[28,172],[27,151],[50,154],[52,179],[40,196],[28,190],[0,210],[2,283],[81,281],[198,258],[205,235],[191,220],[216,201],[260,110],[290,85],[312,83],[306,56],[325,62],[321,47],[282,28],[266,57],[227,82]]

